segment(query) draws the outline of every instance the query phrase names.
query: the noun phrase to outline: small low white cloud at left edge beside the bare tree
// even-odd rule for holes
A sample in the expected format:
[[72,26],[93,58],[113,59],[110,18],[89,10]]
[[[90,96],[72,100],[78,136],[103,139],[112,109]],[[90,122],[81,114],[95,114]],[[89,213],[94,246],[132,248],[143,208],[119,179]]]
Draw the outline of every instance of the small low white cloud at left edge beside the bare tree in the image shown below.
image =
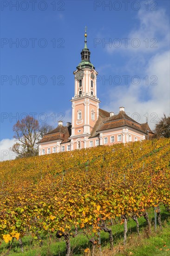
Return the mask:
[[9,148],[16,143],[15,139],[3,139],[0,141],[0,161],[13,160],[16,154]]

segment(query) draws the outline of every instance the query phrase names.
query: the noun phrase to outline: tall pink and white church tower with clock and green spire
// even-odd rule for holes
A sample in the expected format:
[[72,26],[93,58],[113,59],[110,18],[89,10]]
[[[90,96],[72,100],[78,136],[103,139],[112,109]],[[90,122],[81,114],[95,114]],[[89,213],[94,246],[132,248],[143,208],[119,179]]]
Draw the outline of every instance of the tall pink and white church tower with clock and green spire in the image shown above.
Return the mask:
[[87,48],[85,27],[85,47],[81,51],[81,62],[74,74],[75,92],[72,97],[72,149],[89,148],[88,137],[98,120],[99,103],[97,98],[97,74],[90,61],[90,51]]

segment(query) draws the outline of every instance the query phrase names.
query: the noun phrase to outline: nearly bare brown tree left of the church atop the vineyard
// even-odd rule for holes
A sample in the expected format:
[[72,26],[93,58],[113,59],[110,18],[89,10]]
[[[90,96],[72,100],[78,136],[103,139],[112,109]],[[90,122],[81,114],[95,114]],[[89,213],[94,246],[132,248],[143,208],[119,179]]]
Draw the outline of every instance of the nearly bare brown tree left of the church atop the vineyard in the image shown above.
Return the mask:
[[39,121],[27,115],[21,121],[18,120],[13,126],[16,143],[11,150],[18,158],[38,155],[36,142],[39,139]]

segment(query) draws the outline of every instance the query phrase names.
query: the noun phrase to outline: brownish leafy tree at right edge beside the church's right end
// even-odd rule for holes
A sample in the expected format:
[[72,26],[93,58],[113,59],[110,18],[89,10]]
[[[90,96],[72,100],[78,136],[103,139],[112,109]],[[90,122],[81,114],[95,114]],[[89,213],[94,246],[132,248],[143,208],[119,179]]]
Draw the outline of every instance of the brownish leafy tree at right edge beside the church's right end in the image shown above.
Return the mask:
[[170,116],[164,114],[161,120],[156,124],[154,130],[155,136],[170,138]]

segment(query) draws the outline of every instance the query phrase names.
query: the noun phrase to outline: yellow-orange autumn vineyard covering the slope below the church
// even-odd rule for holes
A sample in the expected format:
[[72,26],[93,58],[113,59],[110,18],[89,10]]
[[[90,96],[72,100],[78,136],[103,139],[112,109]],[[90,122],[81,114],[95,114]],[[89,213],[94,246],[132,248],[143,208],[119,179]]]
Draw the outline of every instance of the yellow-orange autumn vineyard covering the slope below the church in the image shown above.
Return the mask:
[[108,233],[113,249],[111,224],[144,218],[150,234],[148,209],[170,210],[170,139],[136,141],[98,146],[50,155],[0,162],[0,240],[12,247],[28,234],[41,242],[55,234],[66,243],[84,234],[94,255],[101,249],[100,231]]

